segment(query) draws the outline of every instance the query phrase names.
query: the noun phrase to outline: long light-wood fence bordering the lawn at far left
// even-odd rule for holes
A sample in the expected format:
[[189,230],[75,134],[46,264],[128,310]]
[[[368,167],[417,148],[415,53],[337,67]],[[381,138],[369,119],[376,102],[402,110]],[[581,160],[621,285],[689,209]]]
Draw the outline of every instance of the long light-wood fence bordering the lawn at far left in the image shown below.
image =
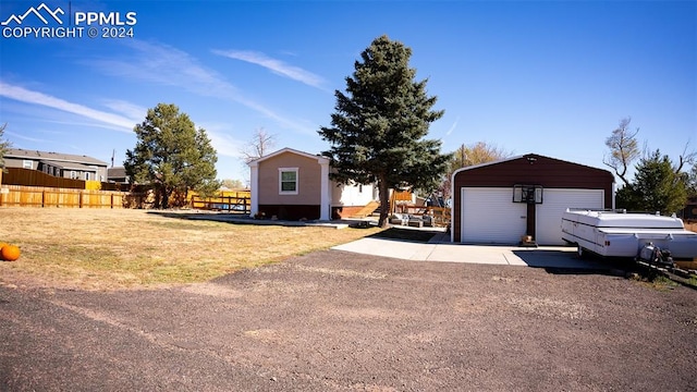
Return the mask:
[[2,185],[0,206],[124,208],[130,204],[127,192],[86,191],[41,186]]

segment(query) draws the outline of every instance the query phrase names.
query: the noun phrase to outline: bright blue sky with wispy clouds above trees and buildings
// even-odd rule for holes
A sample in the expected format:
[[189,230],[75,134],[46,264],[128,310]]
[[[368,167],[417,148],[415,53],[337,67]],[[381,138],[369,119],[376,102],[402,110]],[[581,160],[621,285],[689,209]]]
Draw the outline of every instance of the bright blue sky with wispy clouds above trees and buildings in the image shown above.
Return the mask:
[[[16,21],[1,26],[0,123],[16,148],[106,162],[115,150],[120,166],[147,109],[174,103],[208,132],[219,179],[245,181],[240,151],[257,128],[276,148],[329,148],[317,130],[330,124],[333,91],[387,34],[412,48],[417,78],[445,111],[429,133],[444,151],[487,142],[606,168],[604,139],[624,117],[651,150],[697,149],[695,1],[44,3],[64,24],[28,14],[22,27],[84,32],[36,38]],[[40,4],[3,0],[0,21]],[[89,12],[119,20],[75,24]],[[89,38],[89,27],[133,37]]]

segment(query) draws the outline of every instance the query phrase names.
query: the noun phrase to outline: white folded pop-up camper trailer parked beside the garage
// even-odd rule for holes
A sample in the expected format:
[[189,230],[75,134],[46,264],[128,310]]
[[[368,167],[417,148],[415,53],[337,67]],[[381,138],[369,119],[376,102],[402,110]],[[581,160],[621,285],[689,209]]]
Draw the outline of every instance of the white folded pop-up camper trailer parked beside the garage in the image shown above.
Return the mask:
[[579,256],[638,257],[646,246],[656,246],[676,259],[697,257],[697,233],[685,230],[681,219],[658,213],[567,209],[562,238],[577,245]]

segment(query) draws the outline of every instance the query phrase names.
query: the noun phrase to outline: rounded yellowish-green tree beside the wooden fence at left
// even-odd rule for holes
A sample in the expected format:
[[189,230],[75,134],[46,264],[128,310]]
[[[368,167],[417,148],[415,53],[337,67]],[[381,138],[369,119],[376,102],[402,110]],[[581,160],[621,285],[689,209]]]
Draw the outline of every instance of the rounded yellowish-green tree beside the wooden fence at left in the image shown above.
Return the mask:
[[126,151],[124,167],[135,183],[150,184],[156,207],[185,203],[189,189],[208,195],[220,187],[216,181],[216,150],[204,128],[196,130],[188,115],[174,105],[149,109],[134,127],[137,144]]

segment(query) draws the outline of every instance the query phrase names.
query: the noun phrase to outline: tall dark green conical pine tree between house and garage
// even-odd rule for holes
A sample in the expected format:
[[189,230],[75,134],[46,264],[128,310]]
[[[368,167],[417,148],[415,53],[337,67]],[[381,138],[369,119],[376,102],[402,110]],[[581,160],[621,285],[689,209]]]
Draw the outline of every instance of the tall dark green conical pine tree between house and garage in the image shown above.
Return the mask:
[[323,155],[331,159],[333,180],[378,184],[380,226],[387,225],[390,188],[435,189],[450,158],[441,155],[440,140],[425,138],[443,111],[432,110],[436,97],[427,95],[427,79],[415,81],[411,56],[403,44],[376,38],[346,77],[346,94],[334,94],[332,126],[319,131],[331,144]]

